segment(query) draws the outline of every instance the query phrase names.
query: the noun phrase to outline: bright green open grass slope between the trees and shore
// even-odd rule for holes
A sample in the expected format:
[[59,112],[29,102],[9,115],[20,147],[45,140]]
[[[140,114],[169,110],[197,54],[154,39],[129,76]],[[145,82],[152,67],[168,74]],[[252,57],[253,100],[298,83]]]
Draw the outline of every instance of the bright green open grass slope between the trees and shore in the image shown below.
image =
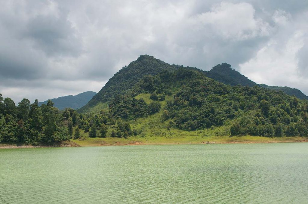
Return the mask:
[[[308,141],[308,138],[303,137],[258,137],[258,136],[229,136],[230,122],[226,121],[224,126],[214,127],[211,129],[197,130],[197,131],[183,131],[179,129],[169,129],[169,121],[161,121],[161,115],[163,107],[166,105],[166,101],[173,96],[166,96],[166,100],[160,101],[161,110],[153,115],[149,115],[144,118],[138,118],[136,120],[129,121],[132,129],[142,130],[142,133],[138,136],[132,136],[125,138],[110,137],[111,130],[116,131],[115,126],[111,126],[108,129],[106,138],[91,138],[88,137],[88,133],[82,131],[82,137],[77,140],[72,140],[81,146],[96,146],[96,145],[136,145],[136,144],[197,144],[204,141],[210,141],[215,143],[267,143],[267,142],[297,142]],[[143,98],[146,103],[152,102],[150,94],[139,94],[135,96],[136,99]],[[95,106],[99,108],[98,106]],[[101,104],[101,107],[107,109],[107,104]]]

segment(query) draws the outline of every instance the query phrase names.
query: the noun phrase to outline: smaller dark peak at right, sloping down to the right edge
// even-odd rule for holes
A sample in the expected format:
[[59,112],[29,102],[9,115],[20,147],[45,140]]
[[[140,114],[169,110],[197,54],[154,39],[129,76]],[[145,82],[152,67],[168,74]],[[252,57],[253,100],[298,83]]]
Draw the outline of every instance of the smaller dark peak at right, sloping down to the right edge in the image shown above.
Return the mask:
[[299,99],[308,99],[308,96],[306,96],[296,88],[257,84],[254,81],[248,79],[246,76],[242,75],[240,72],[232,69],[231,66],[227,63],[218,64],[215,67],[213,67],[210,71],[204,71],[204,73],[209,78],[212,78],[224,84],[229,84],[231,86],[236,86],[238,84],[250,87],[261,86],[263,88],[275,91],[282,91],[290,96],[296,96]]

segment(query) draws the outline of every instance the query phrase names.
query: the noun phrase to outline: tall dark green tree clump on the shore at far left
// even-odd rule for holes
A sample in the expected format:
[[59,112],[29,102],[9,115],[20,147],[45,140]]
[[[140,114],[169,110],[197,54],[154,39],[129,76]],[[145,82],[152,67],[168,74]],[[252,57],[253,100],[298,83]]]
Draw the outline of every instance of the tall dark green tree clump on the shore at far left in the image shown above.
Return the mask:
[[16,107],[12,99],[0,96],[0,143],[39,145],[69,139],[63,117],[52,101],[39,107],[38,100],[30,104],[23,99]]

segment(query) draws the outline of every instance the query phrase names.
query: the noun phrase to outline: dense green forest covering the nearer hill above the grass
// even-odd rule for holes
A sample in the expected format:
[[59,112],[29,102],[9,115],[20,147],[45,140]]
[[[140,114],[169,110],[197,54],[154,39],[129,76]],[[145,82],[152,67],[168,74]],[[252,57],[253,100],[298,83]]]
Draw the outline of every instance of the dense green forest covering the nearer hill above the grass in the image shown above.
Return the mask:
[[[232,120],[231,134],[266,137],[307,136],[308,101],[258,86],[229,86],[186,68],[146,75],[126,96],[115,96],[110,111],[113,116],[133,119],[160,110],[155,100],[172,95],[163,108],[162,120],[170,127],[200,130],[224,125]],[[136,100],[140,93],[151,94],[147,105]]]

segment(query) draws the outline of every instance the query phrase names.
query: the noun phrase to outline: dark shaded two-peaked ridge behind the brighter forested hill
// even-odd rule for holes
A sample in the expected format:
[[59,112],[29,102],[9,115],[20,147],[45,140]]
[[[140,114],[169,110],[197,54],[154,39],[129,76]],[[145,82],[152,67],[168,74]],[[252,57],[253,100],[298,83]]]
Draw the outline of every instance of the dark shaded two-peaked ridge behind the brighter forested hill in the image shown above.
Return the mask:
[[[123,94],[129,88],[132,88],[144,75],[156,75],[160,71],[174,71],[183,67],[183,65],[168,64],[160,59],[157,59],[150,55],[140,55],[135,61],[132,61],[128,66],[122,67],[117,73],[115,73],[103,86],[103,88],[95,95],[93,98],[78,112],[87,112],[95,107],[98,103],[105,103],[112,100],[112,96],[115,94]],[[245,75],[232,69],[230,64],[221,63],[214,66],[210,71],[204,71],[196,67],[185,67],[190,70],[195,70],[202,72],[207,77],[217,80],[223,84],[228,84],[231,86],[236,86],[238,84],[242,86],[258,86],[260,84],[255,83],[250,80]],[[275,91],[283,91],[286,94],[296,96],[300,99],[308,99],[308,96],[303,94],[298,89],[293,89],[290,87],[276,87],[272,88],[270,86],[264,87],[267,89],[272,89]],[[106,106],[106,105],[104,105]]]

